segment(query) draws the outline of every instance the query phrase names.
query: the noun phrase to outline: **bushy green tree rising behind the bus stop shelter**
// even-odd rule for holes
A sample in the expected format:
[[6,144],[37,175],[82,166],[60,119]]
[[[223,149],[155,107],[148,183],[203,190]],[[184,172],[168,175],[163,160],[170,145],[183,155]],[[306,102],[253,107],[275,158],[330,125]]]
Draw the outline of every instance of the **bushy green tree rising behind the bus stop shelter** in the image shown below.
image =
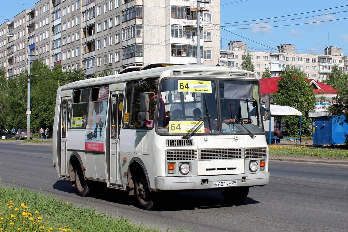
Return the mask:
[[[278,105],[294,107],[302,112],[302,134],[311,135],[311,119],[309,112],[315,110],[315,94],[313,86],[309,85],[303,70],[287,67],[280,73],[277,93],[272,94],[273,101]],[[300,118],[284,117],[284,135],[298,136],[300,134]]]

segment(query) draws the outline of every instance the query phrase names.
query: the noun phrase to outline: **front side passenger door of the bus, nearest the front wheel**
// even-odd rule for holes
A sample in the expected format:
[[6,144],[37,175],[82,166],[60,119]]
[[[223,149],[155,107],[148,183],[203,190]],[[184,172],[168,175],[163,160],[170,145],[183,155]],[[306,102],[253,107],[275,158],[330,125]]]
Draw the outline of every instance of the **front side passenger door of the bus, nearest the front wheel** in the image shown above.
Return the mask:
[[111,113],[110,113],[110,184],[118,184],[118,162],[119,162],[119,141],[121,130],[121,119],[123,110],[122,92],[111,93]]

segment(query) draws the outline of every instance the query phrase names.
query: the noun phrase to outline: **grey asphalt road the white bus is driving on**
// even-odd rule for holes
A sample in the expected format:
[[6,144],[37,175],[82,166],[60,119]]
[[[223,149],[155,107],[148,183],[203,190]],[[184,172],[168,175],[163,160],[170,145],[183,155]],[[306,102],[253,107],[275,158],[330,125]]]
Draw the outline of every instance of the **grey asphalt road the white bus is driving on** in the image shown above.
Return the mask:
[[270,183],[252,187],[244,205],[228,206],[220,191],[167,194],[156,211],[132,205],[122,191],[77,195],[52,168],[52,144],[0,141],[1,185],[56,194],[75,205],[161,230],[192,231],[347,231],[348,166],[270,161]]

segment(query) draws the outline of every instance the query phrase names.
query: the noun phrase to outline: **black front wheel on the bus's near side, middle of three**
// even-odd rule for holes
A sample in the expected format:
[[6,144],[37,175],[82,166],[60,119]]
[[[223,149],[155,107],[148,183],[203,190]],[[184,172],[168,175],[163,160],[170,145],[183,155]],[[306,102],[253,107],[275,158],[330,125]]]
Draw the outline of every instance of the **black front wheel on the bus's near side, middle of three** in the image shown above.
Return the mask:
[[150,210],[153,208],[152,193],[149,189],[149,184],[145,175],[142,173],[135,178],[134,181],[134,195],[140,208]]

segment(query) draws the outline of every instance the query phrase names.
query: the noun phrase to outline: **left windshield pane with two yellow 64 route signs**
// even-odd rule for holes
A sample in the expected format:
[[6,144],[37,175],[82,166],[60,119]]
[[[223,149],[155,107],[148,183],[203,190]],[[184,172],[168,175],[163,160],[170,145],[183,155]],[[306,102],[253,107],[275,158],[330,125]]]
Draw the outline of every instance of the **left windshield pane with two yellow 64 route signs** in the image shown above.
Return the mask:
[[160,96],[164,104],[159,106],[159,133],[186,134],[195,126],[199,127],[196,134],[218,132],[214,80],[166,79],[161,82]]

